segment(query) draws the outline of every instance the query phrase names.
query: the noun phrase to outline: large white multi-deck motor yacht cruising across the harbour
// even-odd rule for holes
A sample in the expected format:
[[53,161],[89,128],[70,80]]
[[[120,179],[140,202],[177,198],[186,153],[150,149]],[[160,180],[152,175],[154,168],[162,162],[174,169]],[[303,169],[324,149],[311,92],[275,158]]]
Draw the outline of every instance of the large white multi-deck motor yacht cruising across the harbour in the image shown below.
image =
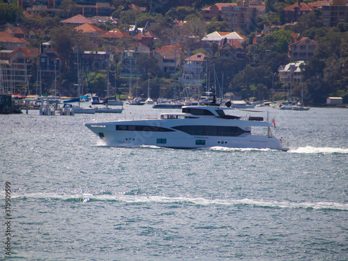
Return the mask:
[[[160,118],[85,123],[110,146],[155,145],[164,148],[258,148],[288,150],[271,134],[271,123],[262,117],[226,115],[227,107],[183,106],[180,113],[163,113]],[[253,134],[261,127],[265,134]]]

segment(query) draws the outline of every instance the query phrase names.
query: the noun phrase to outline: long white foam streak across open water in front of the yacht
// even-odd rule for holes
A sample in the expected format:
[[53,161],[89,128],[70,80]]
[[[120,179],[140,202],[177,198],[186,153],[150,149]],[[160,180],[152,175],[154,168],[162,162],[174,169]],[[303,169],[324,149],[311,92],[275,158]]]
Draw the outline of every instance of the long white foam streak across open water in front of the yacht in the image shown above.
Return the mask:
[[311,209],[336,209],[347,210],[348,203],[335,202],[290,202],[290,201],[274,201],[274,200],[253,200],[253,199],[207,199],[207,198],[191,198],[191,197],[166,197],[152,195],[127,195],[118,193],[116,195],[103,194],[93,195],[89,193],[72,193],[72,194],[55,194],[55,193],[30,193],[25,195],[15,195],[13,198],[26,199],[46,199],[46,200],[73,200],[77,202],[87,203],[88,201],[121,201],[125,203],[171,203],[171,204],[194,204],[194,205],[251,205],[256,207],[276,207],[276,208],[311,208]]

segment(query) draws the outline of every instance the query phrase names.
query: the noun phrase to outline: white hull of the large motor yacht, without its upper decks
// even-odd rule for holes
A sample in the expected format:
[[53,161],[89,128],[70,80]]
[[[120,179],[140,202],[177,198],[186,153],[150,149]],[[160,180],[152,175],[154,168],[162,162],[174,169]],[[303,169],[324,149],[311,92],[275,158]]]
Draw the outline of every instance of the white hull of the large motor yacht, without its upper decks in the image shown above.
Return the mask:
[[[194,124],[192,121],[194,121]],[[235,127],[248,129],[247,125],[245,125],[245,120],[226,120],[223,123],[226,124],[226,126],[231,126],[228,124],[231,122],[233,122],[232,125]],[[221,120],[213,120],[209,123],[209,127],[221,126]],[[220,146],[226,148],[288,150],[288,148],[283,148],[282,143],[274,136],[255,135],[247,131],[239,136],[223,136],[223,134],[219,133],[210,133],[212,135],[207,135],[207,133],[188,134],[175,129],[177,126],[191,126],[192,124],[200,126],[206,125],[203,119],[134,120],[86,123],[85,125],[109,146],[145,145],[180,149],[199,149]],[[122,130],[124,126],[128,126],[128,129]],[[139,129],[137,126],[141,126],[141,130],[131,130]]]

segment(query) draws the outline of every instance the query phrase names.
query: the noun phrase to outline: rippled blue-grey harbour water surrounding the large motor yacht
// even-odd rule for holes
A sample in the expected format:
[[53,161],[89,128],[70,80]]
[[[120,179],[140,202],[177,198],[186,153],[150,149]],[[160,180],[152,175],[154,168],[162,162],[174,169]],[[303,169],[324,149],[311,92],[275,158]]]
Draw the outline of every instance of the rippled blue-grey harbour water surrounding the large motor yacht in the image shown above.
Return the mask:
[[262,110],[289,152],[112,148],[84,127],[112,115],[0,116],[11,257],[348,260],[348,109]]

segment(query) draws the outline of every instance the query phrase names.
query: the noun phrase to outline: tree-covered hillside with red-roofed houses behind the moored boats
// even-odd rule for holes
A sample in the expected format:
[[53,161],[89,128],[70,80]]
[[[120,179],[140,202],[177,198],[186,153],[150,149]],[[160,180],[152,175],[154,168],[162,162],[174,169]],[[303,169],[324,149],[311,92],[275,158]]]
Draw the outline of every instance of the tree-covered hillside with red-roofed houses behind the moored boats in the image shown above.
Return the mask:
[[146,97],[150,77],[151,97],[214,88],[219,97],[348,103],[348,5],[1,2],[0,65],[0,93],[76,96],[80,78],[84,92]]

